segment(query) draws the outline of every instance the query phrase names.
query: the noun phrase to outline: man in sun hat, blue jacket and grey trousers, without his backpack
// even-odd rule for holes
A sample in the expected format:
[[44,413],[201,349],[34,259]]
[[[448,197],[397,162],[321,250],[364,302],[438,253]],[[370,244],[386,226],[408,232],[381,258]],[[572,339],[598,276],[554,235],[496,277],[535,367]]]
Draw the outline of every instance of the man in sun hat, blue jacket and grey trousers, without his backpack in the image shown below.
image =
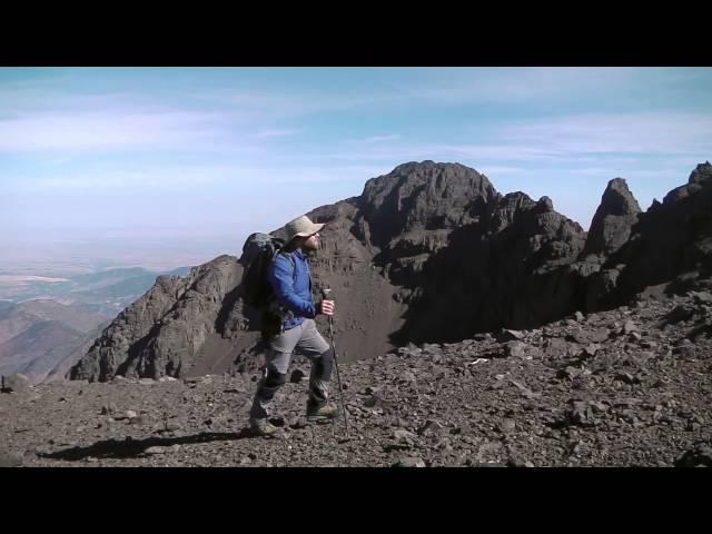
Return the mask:
[[[307,216],[297,217],[285,225],[285,246],[269,265],[267,278],[276,300],[273,301],[263,336],[267,344],[265,363],[267,374],[259,382],[249,423],[257,435],[277,431],[269,421],[269,405],[275,393],[287,382],[287,370],[293,350],[304,353],[312,360],[307,421],[325,423],[338,416],[338,408],[328,403],[328,382],[334,366],[334,347],[316,329],[314,318],[318,314],[333,315],[334,301],[312,298],[312,276],[307,253],[319,247],[319,230]],[[276,312],[274,308],[278,308]],[[271,322],[271,324],[270,324]]]

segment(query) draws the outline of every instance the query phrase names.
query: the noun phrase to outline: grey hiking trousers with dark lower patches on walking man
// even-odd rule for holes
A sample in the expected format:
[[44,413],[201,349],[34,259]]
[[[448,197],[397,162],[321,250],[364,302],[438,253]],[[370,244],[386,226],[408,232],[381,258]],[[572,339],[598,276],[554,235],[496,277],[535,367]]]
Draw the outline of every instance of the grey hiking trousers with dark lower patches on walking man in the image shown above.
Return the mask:
[[259,382],[249,416],[251,419],[268,417],[269,405],[277,390],[287,382],[291,353],[296,349],[312,360],[309,375],[309,402],[324,404],[328,398],[328,382],[334,364],[334,349],[316,329],[314,319],[269,338],[265,354],[267,375]]

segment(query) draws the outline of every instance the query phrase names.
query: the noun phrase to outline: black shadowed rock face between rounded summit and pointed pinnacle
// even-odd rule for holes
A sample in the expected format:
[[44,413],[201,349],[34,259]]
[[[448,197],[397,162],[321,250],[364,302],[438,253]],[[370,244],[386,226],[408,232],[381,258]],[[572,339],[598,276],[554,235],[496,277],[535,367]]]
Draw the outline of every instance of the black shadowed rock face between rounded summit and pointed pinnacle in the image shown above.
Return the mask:
[[397,342],[456,340],[574,312],[575,288],[562,284],[571,275],[560,267],[583,249],[583,229],[522,192],[486,208],[421,269],[416,264],[400,276],[412,304]]

